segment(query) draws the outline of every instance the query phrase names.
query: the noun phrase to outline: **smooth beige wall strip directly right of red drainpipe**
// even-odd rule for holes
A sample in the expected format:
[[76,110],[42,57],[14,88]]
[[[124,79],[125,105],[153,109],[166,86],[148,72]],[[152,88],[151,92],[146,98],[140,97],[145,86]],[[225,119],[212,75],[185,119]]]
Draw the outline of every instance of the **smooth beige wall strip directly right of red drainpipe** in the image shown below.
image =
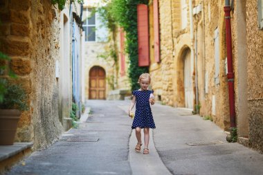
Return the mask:
[[[248,145],[248,70],[246,39],[246,1],[237,1],[232,12],[233,59],[235,65],[235,109],[237,132]],[[242,141],[244,142],[244,141]]]

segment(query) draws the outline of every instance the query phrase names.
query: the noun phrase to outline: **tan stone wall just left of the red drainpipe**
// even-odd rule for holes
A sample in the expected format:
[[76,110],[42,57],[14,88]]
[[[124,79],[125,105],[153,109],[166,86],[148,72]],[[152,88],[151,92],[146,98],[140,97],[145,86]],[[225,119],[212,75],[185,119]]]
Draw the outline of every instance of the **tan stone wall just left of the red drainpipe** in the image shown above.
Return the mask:
[[[201,3],[201,1],[196,1],[195,6],[199,3]],[[200,44],[197,48],[198,55],[199,53],[203,55],[203,57],[197,57],[197,65],[201,65],[203,69],[201,70],[201,68],[198,68],[199,82],[201,81],[201,83],[199,83],[199,102],[201,104],[200,115],[211,116],[212,120],[219,127],[227,130],[230,125],[228,84],[225,71],[226,37],[224,27],[224,2],[206,1],[203,4],[201,15],[195,19],[197,20],[195,24],[197,31],[203,30],[204,28],[201,35],[197,35],[197,42],[200,43],[200,40],[203,42],[203,35],[205,39],[205,44]],[[219,30],[219,84],[215,83],[214,38],[216,28]],[[215,99],[214,102],[213,98]]]

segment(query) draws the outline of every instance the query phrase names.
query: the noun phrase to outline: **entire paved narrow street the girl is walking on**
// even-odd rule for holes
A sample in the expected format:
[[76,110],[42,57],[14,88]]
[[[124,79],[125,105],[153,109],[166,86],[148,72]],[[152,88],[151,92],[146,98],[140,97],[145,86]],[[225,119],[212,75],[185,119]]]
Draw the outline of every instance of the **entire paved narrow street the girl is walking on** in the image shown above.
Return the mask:
[[129,101],[89,100],[87,107],[91,109],[89,117],[78,129],[64,133],[48,149],[35,151],[8,174],[263,172],[262,154],[238,143],[226,142],[222,129],[210,120],[192,116],[191,111],[155,104],[152,110],[156,129],[151,132],[150,153],[143,155],[134,151],[136,139],[134,133],[131,134],[132,120],[127,116]]

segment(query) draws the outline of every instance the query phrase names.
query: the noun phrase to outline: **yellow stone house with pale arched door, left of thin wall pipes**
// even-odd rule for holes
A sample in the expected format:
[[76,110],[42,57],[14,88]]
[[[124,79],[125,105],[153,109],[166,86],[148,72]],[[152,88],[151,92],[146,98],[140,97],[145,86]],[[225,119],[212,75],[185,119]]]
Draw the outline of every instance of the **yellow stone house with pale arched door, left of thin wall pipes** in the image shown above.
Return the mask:
[[[188,1],[149,4],[149,72],[158,100],[174,107],[194,109],[194,38],[188,9]],[[159,40],[155,40],[154,33],[159,35]],[[156,59],[156,47],[159,47],[160,61]]]

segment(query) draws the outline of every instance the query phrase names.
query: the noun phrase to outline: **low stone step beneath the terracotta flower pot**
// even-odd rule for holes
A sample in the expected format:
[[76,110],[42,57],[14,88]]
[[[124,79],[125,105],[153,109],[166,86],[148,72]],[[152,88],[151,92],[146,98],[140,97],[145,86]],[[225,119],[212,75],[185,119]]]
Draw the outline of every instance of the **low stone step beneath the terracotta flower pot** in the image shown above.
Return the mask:
[[14,145],[0,145],[0,174],[31,153],[32,142],[15,142]]

